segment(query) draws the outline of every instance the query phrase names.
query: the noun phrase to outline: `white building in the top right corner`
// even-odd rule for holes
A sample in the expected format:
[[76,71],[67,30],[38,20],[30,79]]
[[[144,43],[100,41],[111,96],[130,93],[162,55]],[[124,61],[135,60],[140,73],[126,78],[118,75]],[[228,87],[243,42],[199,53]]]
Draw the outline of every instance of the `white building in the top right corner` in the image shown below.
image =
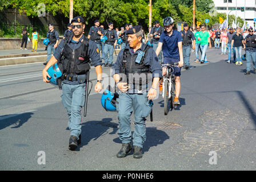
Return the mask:
[[[253,19],[256,18],[256,0],[213,0],[215,9],[218,13],[226,13],[229,15],[240,16],[247,22],[247,28],[253,27]],[[227,9],[228,7],[228,9]],[[235,10],[237,7],[237,10]],[[245,7],[245,11],[241,11],[241,7]],[[231,11],[232,10],[232,11]],[[243,23],[243,22],[240,22]],[[231,24],[230,24],[231,26]]]

